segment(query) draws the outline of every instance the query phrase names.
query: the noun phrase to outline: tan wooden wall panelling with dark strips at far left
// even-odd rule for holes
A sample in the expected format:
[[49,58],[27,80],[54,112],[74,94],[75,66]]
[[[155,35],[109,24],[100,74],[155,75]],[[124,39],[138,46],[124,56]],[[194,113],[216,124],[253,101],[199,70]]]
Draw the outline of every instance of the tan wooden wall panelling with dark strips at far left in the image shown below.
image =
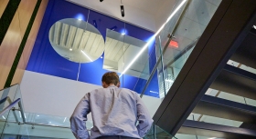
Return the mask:
[[[7,2],[5,0],[1,0],[1,10],[3,10],[5,5],[7,5]],[[25,50],[26,52],[24,53],[23,57],[21,57],[20,64],[18,65],[18,70],[16,70],[17,72],[14,78],[14,82],[12,82],[13,84],[20,83],[21,81],[22,74],[24,73],[24,69],[27,65],[29,54],[31,53],[32,46],[34,45],[33,41],[35,42],[35,38],[37,37],[37,30],[39,28],[39,23],[41,22],[47,2],[48,1],[45,0],[43,1],[44,5],[42,5],[42,8],[40,10],[42,12],[40,12],[40,14],[38,15],[37,24],[33,26],[32,33],[30,33],[27,42],[27,48]],[[21,41],[25,35],[27,25],[36,4],[37,1],[30,0],[22,0],[20,2],[16,10],[16,14],[14,15],[13,20],[5,34],[4,40],[0,45],[0,89],[4,88],[5,86],[6,79],[8,77],[8,74],[10,74],[10,70],[16,58],[17,50],[21,45]]]

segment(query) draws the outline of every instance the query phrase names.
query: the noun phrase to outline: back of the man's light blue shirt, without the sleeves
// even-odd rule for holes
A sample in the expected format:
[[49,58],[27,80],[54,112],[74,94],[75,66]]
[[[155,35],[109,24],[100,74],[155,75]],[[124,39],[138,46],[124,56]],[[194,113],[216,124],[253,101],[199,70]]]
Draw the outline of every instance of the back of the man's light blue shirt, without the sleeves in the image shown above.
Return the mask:
[[93,119],[91,137],[118,134],[140,138],[135,125],[136,93],[112,85],[94,90],[89,95]]

